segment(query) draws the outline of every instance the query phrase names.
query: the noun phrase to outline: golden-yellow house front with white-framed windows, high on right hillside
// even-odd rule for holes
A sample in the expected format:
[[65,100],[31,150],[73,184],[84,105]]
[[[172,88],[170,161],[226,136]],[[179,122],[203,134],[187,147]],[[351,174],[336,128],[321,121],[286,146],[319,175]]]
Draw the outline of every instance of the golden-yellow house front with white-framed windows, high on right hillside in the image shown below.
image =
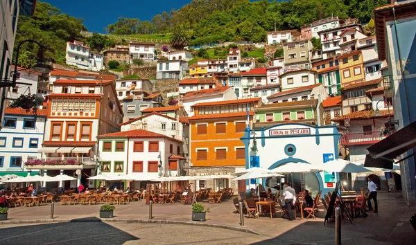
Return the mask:
[[338,60],[343,87],[354,82],[363,82],[365,80],[363,53],[361,51],[345,53],[340,55]]

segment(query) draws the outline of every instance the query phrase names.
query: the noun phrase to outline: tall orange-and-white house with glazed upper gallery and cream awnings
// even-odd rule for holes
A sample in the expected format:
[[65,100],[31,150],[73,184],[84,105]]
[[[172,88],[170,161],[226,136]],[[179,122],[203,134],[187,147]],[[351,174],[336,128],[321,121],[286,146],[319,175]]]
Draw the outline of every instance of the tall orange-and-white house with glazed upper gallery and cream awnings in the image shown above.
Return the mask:
[[26,167],[49,176],[76,176],[77,183],[67,181],[65,189],[81,182],[94,187],[87,176],[94,174],[96,166],[96,136],[120,131],[123,117],[112,80],[56,80],[47,108],[44,141],[38,152],[48,164]]

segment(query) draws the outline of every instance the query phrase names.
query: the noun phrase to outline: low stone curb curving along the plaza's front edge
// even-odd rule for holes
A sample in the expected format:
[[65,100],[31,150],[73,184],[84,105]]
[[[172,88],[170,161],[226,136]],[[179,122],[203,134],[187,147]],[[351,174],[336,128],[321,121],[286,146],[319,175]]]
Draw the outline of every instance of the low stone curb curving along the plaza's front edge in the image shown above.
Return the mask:
[[0,224],[40,224],[40,223],[69,223],[69,222],[107,222],[107,223],[153,223],[153,224],[182,224],[186,226],[205,226],[211,228],[222,228],[226,230],[235,230],[243,233],[260,235],[257,231],[250,230],[239,226],[227,226],[221,224],[207,224],[191,221],[176,221],[162,219],[98,219],[98,218],[81,218],[81,219],[26,219],[26,220],[10,220],[0,221]]

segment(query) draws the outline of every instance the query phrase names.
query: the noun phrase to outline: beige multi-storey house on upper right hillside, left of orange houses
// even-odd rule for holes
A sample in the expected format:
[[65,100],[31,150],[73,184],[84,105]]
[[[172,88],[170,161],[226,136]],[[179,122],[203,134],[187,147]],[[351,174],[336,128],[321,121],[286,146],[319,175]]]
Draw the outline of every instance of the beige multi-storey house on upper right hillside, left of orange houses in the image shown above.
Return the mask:
[[293,69],[310,69],[311,41],[302,39],[299,41],[286,42],[283,44],[285,71]]

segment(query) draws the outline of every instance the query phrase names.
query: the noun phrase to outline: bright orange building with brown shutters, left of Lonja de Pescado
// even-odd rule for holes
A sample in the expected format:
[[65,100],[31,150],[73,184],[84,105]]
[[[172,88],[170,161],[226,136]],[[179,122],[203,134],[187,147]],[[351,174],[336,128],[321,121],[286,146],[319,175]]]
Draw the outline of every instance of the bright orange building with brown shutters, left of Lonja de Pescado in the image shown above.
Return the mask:
[[[195,115],[189,117],[191,174],[233,174],[245,168],[245,147],[240,138],[251,125],[254,109],[261,105],[260,98],[203,102],[193,105]],[[248,107],[248,111],[247,111]],[[248,115],[250,118],[248,118]],[[249,123],[249,125],[248,125]],[[215,183],[198,181],[196,188],[236,189],[229,179]],[[239,191],[245,191],[245,181]]]

